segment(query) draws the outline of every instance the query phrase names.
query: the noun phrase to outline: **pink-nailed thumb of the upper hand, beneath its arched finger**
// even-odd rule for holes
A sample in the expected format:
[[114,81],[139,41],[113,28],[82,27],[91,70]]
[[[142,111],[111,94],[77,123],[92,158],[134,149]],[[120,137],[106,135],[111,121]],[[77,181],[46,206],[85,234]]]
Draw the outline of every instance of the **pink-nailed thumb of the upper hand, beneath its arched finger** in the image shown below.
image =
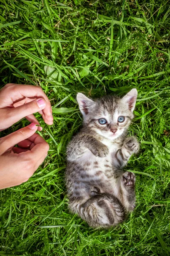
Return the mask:
[[20,105],[16,108],[11,108],[11,119],[12,123],[15,123],[23,117],[29,116],[30,114],[41,111],[46,107],[45,99],[35,99],[26,104]]

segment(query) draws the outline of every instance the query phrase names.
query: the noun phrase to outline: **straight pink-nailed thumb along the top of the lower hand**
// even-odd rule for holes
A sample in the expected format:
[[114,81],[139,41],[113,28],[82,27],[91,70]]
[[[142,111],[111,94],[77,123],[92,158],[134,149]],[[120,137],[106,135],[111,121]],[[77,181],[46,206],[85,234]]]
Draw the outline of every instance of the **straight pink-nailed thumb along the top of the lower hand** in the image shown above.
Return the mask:
[[14,131],[12,134],[9,134],[5,137],[2,137],[0,143],[0,153],[4,153],[6,151],[11,151],[14,145],[19,142],[28,139],[37,131],[37,126],[35,123],[31,123],[30,125],[21,128],[20,130]]

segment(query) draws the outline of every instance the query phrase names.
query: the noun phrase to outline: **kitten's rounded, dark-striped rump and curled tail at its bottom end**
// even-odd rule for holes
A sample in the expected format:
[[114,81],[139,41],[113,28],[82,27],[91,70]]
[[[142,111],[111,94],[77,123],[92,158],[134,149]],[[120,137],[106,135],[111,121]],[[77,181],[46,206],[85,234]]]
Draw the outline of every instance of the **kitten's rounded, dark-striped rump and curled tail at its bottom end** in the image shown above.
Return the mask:
[[95,195],[84,204],[79,204],[77,213],[91,227],[109,228],[125,219],[123,205],[118,198],[108,193]]

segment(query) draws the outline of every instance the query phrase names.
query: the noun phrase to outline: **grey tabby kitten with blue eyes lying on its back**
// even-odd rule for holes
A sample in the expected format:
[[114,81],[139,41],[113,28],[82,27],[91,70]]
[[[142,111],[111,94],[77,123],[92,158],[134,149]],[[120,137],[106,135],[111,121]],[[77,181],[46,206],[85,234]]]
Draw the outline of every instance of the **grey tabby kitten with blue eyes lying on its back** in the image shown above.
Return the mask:
[[135,207],[135,175],[123,167],[139,150],[125,137],[136,98],[136,89],[94,101],[77,95],[84,124],[67,147],[66,188],[69,208],[91,227],[115,226]]

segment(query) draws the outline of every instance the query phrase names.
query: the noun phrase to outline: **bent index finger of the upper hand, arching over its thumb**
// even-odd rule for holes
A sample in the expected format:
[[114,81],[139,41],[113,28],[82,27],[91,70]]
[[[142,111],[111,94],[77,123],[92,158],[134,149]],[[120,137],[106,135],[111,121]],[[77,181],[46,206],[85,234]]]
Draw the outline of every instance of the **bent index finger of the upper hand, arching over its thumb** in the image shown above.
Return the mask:
[[3,87],[3,94],[5,95],[6,93],[8,94],[6,97],[9,97],[9,105],[13,105],[14,102],[17,102],[18,99],[23,99],[23,97],[45,99],[46,107],[43,111],[45,116],[44,121],[46,123],[48,121],[52,122],[53,117],[51,103],[40,87],[27,84],[6,84],[6,86]]

